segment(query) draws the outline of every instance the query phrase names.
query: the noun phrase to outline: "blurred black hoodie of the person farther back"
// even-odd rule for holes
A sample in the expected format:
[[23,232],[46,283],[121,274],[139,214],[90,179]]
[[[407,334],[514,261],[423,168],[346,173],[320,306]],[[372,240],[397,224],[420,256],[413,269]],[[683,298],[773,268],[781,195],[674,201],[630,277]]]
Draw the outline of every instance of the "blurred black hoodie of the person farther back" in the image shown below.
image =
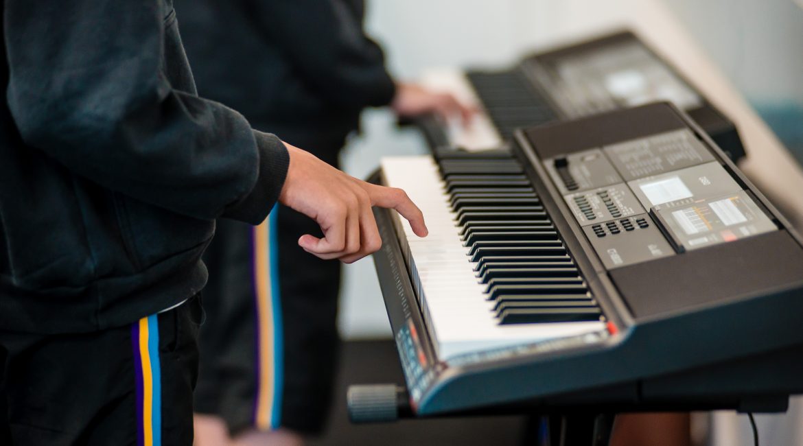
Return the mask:
[[[393,79],[362,0],[175,0],[198,91],[290,144],[342,141]],[[323,146],[332,144],[321,144]],[[334,144],[336,147],[337,144]]]

